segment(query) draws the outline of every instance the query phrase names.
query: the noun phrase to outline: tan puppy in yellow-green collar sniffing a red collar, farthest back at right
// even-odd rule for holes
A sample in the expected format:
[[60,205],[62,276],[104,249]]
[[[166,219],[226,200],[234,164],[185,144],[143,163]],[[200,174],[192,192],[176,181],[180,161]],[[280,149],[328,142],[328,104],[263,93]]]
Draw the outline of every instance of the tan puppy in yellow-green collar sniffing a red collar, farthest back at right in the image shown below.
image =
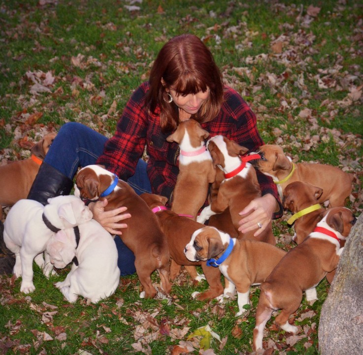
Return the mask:
[[323,189],[318,199],[326,207],[344,206],[352,192],[353,175],[324,164],[293,163],[280,146],[266,144],[260,147],[261,159],[252,162],[254,167],[273,178],[282,198],[285,187],[293,181],[308,182]]

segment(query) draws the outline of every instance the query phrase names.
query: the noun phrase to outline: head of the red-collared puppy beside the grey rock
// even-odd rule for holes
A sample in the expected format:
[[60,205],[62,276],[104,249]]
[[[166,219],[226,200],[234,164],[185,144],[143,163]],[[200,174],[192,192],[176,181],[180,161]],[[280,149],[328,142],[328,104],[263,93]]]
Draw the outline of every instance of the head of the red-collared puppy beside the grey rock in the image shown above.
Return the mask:
[[342,240],[345,240],[346,237],[348,237],[352,227],[357,221],[353,212],[346,207],[329,208],[323,216],[324,218],[318,225],[325,221],[330,228],[340,234],[339,238]]

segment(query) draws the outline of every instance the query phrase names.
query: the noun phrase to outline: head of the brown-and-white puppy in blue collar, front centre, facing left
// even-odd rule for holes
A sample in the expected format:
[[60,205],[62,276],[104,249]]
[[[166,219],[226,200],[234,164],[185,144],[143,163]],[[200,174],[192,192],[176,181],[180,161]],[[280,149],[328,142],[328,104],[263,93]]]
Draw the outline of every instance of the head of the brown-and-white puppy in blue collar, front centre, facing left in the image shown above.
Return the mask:
[[214,227],[203,227],[195,231],[185,246],[186,258],[190,261],[206,261],[222,253],[225,247],[221,233]]

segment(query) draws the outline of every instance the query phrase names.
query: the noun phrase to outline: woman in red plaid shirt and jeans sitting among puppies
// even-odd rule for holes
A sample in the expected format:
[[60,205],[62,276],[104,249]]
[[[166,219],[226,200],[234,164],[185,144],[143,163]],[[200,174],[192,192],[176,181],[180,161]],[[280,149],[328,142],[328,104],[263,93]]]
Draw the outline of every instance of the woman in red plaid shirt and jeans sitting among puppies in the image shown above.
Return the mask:
[[[172,197],[178,174],[179,148],[165,138],[180,121],[194,118],[211,136],[222,134],[256,150],[263,145],[256,117],[242,97],[224,87],[214,59],[196,36],[184,34],[170,39],[160,51],[149,82],[134,91],[117,123],[114,136],[101,134],[79,123],[66,123],[39,169],[30,199],[46,204],[48,197],[68,194],[79,166],[102,164],[127,180],[137,193],[152,192]],[[140,157],[146,145],[149,160]],[[241,215],[240,230],[248,232],[259,224],[259,235],[281,204],[271,178],[258,173],[263,196],[250,203]],[[104,211],[107,201],[91,203],[94,218],[112,234],[126,228],[126,208]],[[121,213],[121,214],[120,214]],[[132,252],[115,238],[121,274],[134,272]]]

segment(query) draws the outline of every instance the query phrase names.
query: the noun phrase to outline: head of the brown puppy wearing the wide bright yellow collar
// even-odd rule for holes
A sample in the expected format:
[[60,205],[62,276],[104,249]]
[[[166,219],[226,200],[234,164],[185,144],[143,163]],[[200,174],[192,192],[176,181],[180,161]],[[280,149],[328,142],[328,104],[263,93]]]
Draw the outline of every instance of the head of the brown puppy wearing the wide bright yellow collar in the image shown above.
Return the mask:
[[[286,186],[282,205],[291,212],[296,213],[306,204],[317,204],[323,194],[323,189],[302,181],[294,181]],[[307,206],[306,206],[307,207]]]

